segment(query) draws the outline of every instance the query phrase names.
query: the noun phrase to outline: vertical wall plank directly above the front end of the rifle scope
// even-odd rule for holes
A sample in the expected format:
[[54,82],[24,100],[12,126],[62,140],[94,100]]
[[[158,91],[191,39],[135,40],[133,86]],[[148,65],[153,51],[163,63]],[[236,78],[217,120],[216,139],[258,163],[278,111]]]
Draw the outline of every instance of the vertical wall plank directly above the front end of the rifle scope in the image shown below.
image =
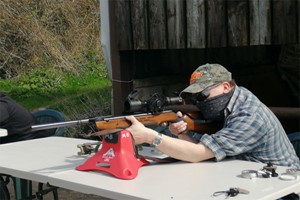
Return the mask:
[[147,1],[131,1],[131,22],[134,49],[148,49]]

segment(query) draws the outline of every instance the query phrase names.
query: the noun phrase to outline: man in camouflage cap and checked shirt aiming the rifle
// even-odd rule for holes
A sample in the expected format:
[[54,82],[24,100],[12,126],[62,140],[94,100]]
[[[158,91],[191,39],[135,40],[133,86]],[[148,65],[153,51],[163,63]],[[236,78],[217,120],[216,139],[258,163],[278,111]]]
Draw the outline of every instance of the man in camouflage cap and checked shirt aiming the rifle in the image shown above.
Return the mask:
[[[173,138],[128,116],[132,125],[127,130],[136,144],[153,144],[163,153],[188,162],[231,157],[300,168],[299,158],[276,116],[249,90],[237,86],[223,66],[198,67],[180,95],[198,107],[203,119],[222,122],[223,128],[191,137],[187,123],[180,121],[169,126],[170,132],[178,136]],[[182,117],[182,113],[178,115]]]

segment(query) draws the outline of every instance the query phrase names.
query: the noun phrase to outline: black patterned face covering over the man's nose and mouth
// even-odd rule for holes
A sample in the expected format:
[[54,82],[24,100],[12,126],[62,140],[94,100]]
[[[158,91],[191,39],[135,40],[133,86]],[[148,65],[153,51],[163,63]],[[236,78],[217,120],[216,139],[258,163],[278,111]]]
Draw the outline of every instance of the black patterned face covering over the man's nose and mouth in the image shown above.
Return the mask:
[[230,98],[233,95],[234,90],[226,94],[220,94],[218,96],[206,99],[201,102],[197,102],[202,117],[205,120],[211,121],[223,121],[224,120],[224,109],[226,108]]

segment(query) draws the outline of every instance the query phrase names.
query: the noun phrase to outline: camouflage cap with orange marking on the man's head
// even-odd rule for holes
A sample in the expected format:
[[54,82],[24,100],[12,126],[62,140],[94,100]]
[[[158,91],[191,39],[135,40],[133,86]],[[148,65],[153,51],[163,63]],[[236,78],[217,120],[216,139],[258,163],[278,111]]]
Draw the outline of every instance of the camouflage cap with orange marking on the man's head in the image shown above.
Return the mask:
[[231,73],[222,65],[201,65],[192,73],[190,85],[181,93],[198,93],[215,83],[222,83],[231,79]]

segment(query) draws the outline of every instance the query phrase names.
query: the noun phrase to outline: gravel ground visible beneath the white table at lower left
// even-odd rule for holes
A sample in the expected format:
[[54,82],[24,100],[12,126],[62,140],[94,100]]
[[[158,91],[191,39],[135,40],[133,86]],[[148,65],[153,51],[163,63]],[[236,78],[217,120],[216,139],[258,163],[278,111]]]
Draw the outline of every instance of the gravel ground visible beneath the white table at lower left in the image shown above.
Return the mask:
[[[38,183],[33,182],[32,183],[32,193],[35,193],[36,191],[38,191]],[[11,200],[15,199],[15,195],[14,195],[14,188],[13,188],[13,183],[12,181],[10,181],[10,183],[8,184],[8,189],[9,189],[9,193],[11,195]],[[66,190],[63,188],[59,188],[58,189],[58,198],[59,200],[111,200],[105,197],[100,197],[97,195],[92,195],[92,194],[83,194],[83,193],[79,193],[79,192],[75,192],[72,190]],[[43,196],[43,200],[53,200],[53,194],[52,192],[46,194]]]

